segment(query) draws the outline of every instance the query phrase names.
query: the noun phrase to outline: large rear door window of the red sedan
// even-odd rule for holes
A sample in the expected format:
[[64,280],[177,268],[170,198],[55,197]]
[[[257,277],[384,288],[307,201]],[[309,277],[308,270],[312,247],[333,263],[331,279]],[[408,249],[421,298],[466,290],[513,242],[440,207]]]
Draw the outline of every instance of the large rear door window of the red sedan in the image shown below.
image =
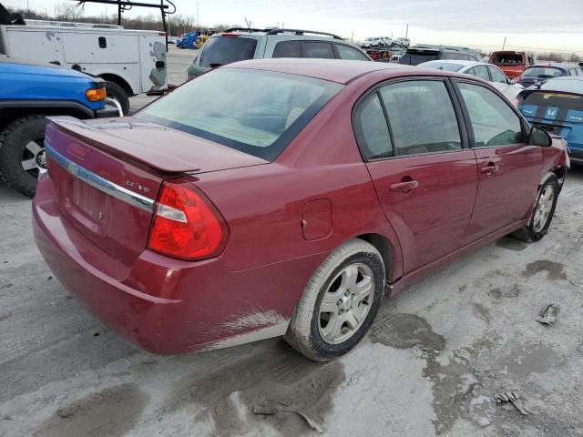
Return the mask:
[[380,90],[397,156],[459,150],[457,117],[445,83],[414,80]]

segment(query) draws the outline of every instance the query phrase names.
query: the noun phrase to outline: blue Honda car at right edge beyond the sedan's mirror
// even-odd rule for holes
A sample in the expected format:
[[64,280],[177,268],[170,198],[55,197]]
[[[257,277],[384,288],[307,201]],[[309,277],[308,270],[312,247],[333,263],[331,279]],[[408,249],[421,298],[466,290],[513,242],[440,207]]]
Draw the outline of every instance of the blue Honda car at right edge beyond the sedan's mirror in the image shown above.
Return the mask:
[[520,93],[518,108],[531,125],[565,138],[571,160],[583,164],[583,76],[530,86]]

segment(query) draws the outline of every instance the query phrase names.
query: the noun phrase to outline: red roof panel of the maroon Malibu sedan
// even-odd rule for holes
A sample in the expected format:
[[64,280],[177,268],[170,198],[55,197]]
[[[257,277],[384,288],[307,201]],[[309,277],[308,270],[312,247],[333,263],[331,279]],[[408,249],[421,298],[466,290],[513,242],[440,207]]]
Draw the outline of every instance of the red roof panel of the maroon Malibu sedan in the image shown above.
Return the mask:
[[403,64],[353,61],[347,59],[277,57],[234,62],[226,66],[221,66],[220,68],[248,68],[273,71],[277,73],[288,73],[328,80],[339,84],[347,84],[359,76],[364,76],[375,71],[386,70],[394,73],[391,76],[403,76],[404,72],[409,72],[412,76],[419,76],[419,74],[423,72],[425,72],[427,76],[460,76],[455,75],[453,72],[443,72],[442,70],[435,70],[434,68],[419,68],[417,66],[406,66]]

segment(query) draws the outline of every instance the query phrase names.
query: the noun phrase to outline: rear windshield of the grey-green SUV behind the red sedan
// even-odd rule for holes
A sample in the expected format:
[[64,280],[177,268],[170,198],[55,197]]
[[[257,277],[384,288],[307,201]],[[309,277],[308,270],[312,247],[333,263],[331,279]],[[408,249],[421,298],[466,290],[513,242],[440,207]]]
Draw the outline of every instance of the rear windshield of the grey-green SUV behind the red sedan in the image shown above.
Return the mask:
[[257,40],[253,38],[215,36],[207,41],[200,53],[200,66],[223,66],[251,59]]

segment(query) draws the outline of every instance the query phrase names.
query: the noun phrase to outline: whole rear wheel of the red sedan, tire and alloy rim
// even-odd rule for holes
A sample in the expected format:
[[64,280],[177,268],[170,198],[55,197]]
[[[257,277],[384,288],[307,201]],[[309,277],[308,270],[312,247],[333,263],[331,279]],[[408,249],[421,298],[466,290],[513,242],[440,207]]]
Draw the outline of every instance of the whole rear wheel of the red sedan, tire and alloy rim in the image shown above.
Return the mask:
[[285,340],[314,361],[342,356],[370,329],[384,298],[384,282],[378,250],[362,239],[346,241],[308,281]]

